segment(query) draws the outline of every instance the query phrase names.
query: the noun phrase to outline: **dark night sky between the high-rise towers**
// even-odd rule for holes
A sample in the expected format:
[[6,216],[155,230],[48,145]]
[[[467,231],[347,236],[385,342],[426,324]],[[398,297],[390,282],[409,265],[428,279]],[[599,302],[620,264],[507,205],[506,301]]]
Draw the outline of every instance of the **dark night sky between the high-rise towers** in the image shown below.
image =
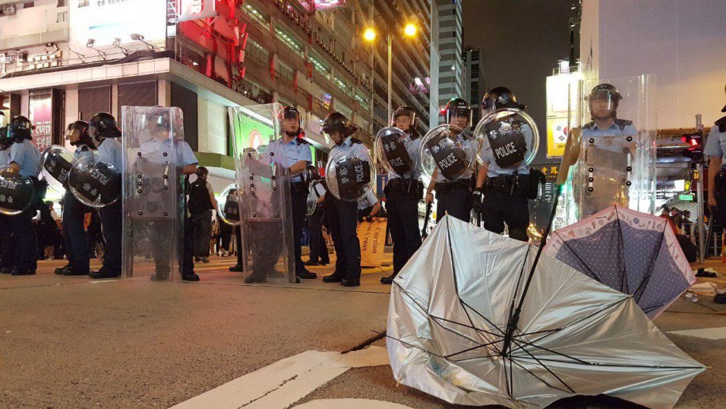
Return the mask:
[[539,127],[547,153],[545,78],[569,54],[571,0],[460,0],[464,46],[481,49],[486,90],[507,86]]

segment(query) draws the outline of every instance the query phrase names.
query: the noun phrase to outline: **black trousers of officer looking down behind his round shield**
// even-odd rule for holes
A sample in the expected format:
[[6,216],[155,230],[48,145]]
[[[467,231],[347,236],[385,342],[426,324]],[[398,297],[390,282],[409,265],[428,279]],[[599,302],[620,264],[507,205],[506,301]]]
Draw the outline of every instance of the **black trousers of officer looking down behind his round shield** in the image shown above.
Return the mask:
[[357,282],[361,279],[361,245],[356,229],[358,227],[358,203],[346,202],[325,195],[327,202],[327,224],[333,235],[335,246],[336,278],[347,278]]

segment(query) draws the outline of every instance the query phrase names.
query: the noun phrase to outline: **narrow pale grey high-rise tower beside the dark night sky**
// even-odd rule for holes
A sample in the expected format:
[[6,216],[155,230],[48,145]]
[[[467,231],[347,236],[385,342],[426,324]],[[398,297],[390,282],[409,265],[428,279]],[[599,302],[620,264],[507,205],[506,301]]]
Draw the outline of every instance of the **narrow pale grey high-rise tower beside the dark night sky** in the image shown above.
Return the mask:
[[[460,0],[434,0],[439,12],[439,108],[464,95]],[[444,121],[440,117],[440,121]]]

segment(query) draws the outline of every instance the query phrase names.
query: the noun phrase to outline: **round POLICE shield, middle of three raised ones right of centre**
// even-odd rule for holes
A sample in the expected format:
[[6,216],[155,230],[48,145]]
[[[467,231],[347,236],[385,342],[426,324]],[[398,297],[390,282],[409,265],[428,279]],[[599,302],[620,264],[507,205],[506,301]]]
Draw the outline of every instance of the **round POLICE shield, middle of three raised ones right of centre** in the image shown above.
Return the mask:
[[424,135],[420,161],[428,178],[441,182],[467,179],[476,161],[476,140],[463,129],[444,123]]

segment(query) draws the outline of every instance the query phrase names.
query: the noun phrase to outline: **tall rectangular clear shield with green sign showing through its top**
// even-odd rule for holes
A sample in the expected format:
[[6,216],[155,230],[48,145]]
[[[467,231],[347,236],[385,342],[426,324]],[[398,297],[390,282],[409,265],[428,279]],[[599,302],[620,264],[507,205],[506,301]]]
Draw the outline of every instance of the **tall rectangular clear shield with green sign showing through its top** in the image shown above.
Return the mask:
[[255,282],[295,282],[290,176],[265,150],[278,135],[280,104],[230,108],[240,202],[242,265]]

